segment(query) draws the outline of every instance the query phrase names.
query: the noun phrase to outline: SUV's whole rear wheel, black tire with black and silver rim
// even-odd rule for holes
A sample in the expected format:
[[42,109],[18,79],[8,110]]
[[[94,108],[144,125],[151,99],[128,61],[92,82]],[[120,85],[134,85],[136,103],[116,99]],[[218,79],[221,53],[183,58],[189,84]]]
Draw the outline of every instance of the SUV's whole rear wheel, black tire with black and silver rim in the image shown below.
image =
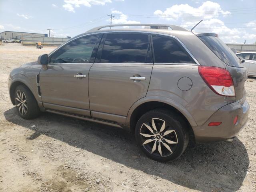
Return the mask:
[[188,146],[186,127],[184,119],[172,111],[151,110],[138,120],[135,137],[148,157],[166,162],[181,156]]

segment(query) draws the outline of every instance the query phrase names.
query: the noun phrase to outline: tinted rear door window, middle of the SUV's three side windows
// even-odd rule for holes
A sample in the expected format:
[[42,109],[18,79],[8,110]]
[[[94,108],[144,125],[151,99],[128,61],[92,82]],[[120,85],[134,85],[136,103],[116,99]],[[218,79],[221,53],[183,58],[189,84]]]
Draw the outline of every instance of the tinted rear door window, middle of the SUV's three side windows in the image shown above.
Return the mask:
[[148,34],[107,34],[100,62],[152,62],[150,53]]

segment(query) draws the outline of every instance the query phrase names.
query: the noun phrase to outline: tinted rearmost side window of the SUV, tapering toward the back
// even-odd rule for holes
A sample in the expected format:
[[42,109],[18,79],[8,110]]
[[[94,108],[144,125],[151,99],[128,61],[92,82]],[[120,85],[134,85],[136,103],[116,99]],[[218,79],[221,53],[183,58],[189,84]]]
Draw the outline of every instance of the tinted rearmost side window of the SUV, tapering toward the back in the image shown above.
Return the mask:
[[156,63],[195,63],[174,38],[152,35],[152,39]]

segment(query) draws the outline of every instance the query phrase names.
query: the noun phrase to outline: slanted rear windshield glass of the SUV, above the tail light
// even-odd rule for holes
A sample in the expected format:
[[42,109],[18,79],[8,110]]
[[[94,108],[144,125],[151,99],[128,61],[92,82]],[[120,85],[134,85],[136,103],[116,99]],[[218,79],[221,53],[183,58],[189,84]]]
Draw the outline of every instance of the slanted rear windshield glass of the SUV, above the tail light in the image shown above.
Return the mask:
[[220,40],[214,36],[202,36],[199,37],[220,60],[232,67],[243,67],[240,59]]

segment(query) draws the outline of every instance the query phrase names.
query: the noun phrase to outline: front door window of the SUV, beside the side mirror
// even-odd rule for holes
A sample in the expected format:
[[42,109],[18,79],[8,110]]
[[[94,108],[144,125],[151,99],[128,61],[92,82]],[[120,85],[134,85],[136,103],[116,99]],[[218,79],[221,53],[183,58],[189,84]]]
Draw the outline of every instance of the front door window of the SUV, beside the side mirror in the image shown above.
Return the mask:
[[88,63],[98,35],[90,35],[71,41],[50,58],[50,63]]

